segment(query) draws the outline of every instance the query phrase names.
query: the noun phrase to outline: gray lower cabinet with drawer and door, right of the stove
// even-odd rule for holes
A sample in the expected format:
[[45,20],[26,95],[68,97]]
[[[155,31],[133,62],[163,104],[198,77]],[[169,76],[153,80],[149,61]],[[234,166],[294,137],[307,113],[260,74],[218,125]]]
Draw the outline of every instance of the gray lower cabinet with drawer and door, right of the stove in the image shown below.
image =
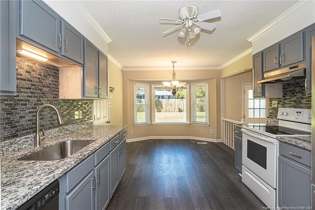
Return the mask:
[[310,208],[311,167],[309,164],[311,152],[282,142],[279,144],[279,152],[279,207],[284,209]]

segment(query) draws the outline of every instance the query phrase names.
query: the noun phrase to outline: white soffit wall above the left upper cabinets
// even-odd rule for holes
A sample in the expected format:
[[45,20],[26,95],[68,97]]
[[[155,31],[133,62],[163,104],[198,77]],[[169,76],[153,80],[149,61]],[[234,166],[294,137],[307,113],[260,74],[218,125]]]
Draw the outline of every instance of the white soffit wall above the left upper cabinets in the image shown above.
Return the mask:
[[106,33],[91,18],[78,1],[72,0],[43,0],[64,20],[87,37],[105,55],[108,55],[108,44],[111,41]]

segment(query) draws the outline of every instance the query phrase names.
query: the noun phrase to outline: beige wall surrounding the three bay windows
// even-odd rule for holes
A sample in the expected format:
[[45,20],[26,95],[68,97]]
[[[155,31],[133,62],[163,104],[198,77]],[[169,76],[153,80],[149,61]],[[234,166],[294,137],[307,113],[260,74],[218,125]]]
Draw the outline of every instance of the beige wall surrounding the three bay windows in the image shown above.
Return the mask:
[[[221,139],[221,95],[220,70],[177,70],[176,76],[180,81],[209,82],[209,119],[210,126],[195,125],[146,125],[133,126],[133,84],[145,82],[161,83],[171,79],[171,70],[123,71],[124,92],[124,124],[128,125],[127,139],[146,137],[199,137],[205,139]],[[126,93],[126,94],[125,94]],[[189,100],[190,101],[190,100]],[[189,102],[190,103],[190,102]],[[213,134],[210,134],[213,129]],[[133,130],[133,134],[130,134]]]

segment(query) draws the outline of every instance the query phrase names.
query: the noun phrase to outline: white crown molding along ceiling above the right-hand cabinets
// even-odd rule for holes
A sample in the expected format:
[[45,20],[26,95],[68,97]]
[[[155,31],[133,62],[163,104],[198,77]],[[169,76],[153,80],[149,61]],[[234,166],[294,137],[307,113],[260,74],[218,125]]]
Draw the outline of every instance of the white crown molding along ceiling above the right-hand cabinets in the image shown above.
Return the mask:
[[275,28],[278,24],[283,22],[286,18],[290,17],[294,12],[300,10],[301,8],[303,8],[305,6],[308,6],[308,4],[312,3],[313,1],[314,0],[300,0],[300,1],[298,1],[291,8],[289,8],[284,13],[279,15],[275,20],[271,21],[264,28],[260,29],[254,35],[249,37],[247,40],[252,43],[256,39],[258,39],[260,36],[264,35],[268,31],[270,31],[271,29]]

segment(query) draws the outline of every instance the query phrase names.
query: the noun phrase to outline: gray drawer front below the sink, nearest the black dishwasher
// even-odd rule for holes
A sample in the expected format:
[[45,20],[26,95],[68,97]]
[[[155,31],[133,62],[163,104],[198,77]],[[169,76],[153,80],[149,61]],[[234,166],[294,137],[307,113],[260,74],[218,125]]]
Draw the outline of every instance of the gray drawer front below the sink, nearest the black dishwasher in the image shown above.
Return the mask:
[[94,168],[94,155],[85,159],[82,163],[77,165],[69,173],[65,175],[66,187],[65,192],[68,193],[81,179],[84,178]]

